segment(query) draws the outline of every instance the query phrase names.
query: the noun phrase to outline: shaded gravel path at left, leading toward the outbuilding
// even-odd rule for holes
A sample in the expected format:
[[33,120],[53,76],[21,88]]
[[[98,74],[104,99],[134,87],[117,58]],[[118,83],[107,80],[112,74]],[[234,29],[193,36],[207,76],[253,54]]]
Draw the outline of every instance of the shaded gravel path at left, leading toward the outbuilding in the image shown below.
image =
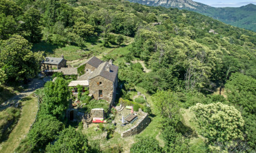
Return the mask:
[[50,81],[50,77],[45,77],[45,78],[35,78],[31,82],[28,83],[28,88],[25,89],[23,92],[17,93],[15,96],[10,98],[9,100],[5,101],[5,103],[0,105],[0,111],[6,109],[7,107],[10,106],[10,104],[17,103],[20,99],[30,95],[33,93],[36,89],[44,87],[45,83],[47,81]]

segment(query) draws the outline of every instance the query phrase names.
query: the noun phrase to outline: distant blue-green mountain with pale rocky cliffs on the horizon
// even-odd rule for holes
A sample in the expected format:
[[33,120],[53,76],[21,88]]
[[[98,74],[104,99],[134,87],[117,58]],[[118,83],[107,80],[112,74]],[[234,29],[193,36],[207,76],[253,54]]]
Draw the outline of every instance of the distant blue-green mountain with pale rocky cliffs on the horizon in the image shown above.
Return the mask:
[[148,6],[163,6],[195,11],[224,23],[256,32],[256,5],[239,8],[215,8],[191,0],[128,0]]

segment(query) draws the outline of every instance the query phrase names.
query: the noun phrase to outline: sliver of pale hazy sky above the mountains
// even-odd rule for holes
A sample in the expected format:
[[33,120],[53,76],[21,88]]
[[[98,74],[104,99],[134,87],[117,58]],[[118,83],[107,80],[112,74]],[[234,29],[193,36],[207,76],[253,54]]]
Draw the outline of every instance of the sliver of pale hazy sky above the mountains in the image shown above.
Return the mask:
[[220,1],[220,0],[193,0],[195,2],[200,2],[212,7],[241,7],[245,6],[247,4],[254,4],[256,5],[255,0],[225,0],[225,1]]

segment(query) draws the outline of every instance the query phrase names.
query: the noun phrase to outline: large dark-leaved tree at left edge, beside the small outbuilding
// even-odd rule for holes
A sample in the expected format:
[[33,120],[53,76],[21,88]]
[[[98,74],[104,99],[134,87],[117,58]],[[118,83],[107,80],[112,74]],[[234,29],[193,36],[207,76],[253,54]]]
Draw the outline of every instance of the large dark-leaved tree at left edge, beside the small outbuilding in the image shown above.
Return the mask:
[[34,78],[40,68],[42,53],[33,53],[31,44],[22,36],[13,35],[0,45],[0,68],[7,81],[26,81]]

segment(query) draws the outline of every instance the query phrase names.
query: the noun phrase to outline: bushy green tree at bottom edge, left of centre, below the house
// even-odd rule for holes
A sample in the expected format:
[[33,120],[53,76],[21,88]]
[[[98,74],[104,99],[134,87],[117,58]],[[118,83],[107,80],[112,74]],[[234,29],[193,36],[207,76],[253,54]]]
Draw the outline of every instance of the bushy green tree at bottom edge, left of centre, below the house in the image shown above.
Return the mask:
[[49,144],[47,152],[90,152],[90,146],[86,135],[81,131],[76,131],[74,127],[69,126],[60,132],[57,141]]

